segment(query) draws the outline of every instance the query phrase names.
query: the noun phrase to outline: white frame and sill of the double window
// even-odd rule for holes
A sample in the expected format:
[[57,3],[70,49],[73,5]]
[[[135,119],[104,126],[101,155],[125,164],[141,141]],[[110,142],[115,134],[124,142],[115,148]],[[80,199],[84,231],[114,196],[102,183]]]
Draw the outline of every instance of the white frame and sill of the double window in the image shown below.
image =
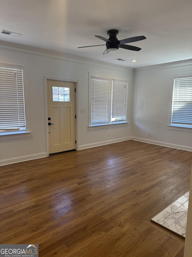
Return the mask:
[[[119,82],[126,82],[128,83],[128,90],[127,90],[127,109],[126,109],[126,120],[125,121],[110,121],[109,124],[94,124],[91,125],[91,89],[92,89],[92,77],[97,79],[103,80],[110,80],[110,114],[112,113],[112,80],[119,81]],[[128,126],[128,96],[129,96],[129,81],[122,80],[122,79],[113,79],[109,78],[111,76],[105,76],[101,74],[90,74],[89,73],[89,99],[88,99],[88,130],[95,130],[95,129],[103,129],[108,127],[122,127]]]

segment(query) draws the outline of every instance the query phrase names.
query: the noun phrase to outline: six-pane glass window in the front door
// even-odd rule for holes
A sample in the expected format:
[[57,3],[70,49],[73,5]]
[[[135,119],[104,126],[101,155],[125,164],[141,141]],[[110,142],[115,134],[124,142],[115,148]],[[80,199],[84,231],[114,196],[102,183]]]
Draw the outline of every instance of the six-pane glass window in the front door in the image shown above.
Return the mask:
[[52,86],[52,98],[54,102],[70,102],[69,87]]

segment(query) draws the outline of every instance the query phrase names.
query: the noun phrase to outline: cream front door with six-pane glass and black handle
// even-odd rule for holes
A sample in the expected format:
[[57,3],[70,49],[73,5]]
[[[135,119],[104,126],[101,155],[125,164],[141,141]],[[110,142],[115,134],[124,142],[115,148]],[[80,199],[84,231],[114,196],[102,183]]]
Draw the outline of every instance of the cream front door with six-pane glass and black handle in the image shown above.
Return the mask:
[[75,149],[75,83],[47,80],[49,154]]

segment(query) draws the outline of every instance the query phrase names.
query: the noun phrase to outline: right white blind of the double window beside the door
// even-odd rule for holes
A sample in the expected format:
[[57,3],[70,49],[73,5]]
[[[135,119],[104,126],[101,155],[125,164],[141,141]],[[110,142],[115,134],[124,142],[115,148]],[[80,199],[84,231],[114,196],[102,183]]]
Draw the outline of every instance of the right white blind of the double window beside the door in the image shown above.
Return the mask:
[[128,82],[113,80],[112,88],[112,122],[126,121]]

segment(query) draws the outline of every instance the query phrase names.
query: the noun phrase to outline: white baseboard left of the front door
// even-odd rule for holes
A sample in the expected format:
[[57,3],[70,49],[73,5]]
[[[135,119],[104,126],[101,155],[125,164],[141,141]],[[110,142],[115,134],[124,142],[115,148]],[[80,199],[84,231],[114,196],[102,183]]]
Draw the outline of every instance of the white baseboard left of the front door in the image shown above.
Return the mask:
[[16,162],[21,162],[21,161],[29,161],[29,160],[44,158],[44,157],[47,157],[46,152],[41,152],[41,153],[38,153],[38,154],[25,155],[25,156],[20,156],[20,157],[15,157],[15,158],[4,159],[4,160],[0,160],[0,166],[7,165],[7,164],[12,164],[12,163],[16,163]]

